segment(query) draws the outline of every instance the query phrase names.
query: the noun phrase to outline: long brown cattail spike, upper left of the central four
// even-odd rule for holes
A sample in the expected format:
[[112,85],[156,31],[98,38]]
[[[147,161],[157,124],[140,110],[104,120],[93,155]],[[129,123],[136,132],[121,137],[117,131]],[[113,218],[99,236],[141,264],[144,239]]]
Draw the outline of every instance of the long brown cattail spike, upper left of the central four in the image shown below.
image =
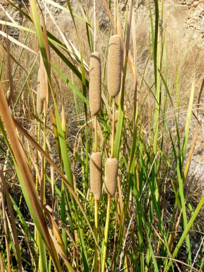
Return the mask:
[[89,101],[92,115],[101,108],[101,59],[98,52],[91,54],[89,70]]

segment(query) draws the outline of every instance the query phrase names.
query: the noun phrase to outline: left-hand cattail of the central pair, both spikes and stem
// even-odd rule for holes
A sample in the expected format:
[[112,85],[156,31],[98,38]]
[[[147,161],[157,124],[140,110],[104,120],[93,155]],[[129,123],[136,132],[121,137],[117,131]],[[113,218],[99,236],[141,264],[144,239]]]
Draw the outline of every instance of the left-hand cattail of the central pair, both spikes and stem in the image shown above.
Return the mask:
[[[90,58],[89,101],[91,115],[94,116],[94,153],[90,158],[90,186],[95,202],[95,235],[98,237],[98,201],[102,190],[102,158],[101,153],[97,152],[97,114],[101,108],[101,59],[98,52],[92,53]],[[95,245],[95,271],[98,270],[98,260]]]

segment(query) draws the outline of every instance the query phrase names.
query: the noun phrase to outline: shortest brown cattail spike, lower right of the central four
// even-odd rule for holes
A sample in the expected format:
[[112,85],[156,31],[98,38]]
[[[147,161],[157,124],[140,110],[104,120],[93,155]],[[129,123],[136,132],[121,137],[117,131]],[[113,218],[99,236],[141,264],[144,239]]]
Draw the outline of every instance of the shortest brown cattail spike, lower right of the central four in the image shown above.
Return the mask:
[[111,196],[115,195],[117,188],[118,160],[108,158],[105,163],[105,191]]

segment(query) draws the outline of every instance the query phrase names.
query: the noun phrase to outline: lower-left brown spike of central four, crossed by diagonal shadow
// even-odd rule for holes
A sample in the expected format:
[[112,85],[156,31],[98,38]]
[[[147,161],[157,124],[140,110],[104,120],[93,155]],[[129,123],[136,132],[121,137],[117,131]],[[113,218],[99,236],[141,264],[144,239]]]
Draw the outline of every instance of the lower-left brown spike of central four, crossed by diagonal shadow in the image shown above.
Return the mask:
[[90,157],[90,185],[97,200],[101,198],[102,190],[102,158],[101,153],[93,153]]

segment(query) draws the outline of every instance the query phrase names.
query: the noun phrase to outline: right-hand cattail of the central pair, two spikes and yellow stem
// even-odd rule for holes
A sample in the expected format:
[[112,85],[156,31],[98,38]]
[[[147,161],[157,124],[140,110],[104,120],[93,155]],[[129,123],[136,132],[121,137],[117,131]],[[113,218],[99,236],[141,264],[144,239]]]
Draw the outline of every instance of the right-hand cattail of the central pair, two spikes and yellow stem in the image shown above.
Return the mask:
[[117,188],[118,160],[114,156],[114,136],[115,136],[115,97],[120,92],[121,85],[121,62],[122,48],[119,35],[110,37],[108,46],[108,93],[113,98],[112,133],[111,133],[111,157],[105,163],[105,190],[108,194],[108,206],[105,225],[105,238],[103,248],[102,269],[105,270],[105,260],[107,251],[108,228],[110,219],[111,197],[115,195]]

